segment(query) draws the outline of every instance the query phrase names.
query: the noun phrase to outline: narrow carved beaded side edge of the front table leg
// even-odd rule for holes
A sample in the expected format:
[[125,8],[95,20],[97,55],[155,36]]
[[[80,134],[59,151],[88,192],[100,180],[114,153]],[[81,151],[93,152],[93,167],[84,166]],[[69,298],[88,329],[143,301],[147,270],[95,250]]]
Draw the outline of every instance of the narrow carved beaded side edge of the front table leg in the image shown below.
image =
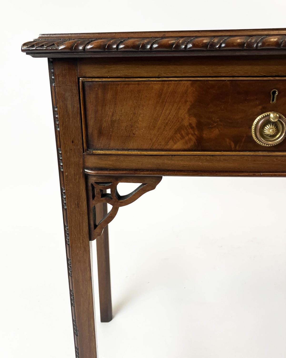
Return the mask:
[[64,216],[64,229],[65,229],[66,258],[67,258],[67,269],[68,269],[68,273],[69,273],[69,289],[70,289],[70,301],[71,301],[71,311],[72,311],[72,323],[73,323],[73,327],[74,327],[75,356],[76,356],[76,358],[79,358],[79,344],[78,344],[78,339],[77,339],[78,329],[77,329],[77,325],[76,325],[74,285],[72,282],[72,267],[71,267],[71,256],[70,256],[70,237],[69,237],[69,226],[68,226],[68,222],[67,222],[67,210],[66,210],[66,191],[65,191],[65,183],[64,183],[64,174],[63,174],[64,169],[63,169],[63,164],[62,164],[59,118],[57,115],[54,66],[53,66],[52,59],[49,58],[48,64],[49,64],[52,107],[53,107],[53,114],[54,114],[56,145],[57,145],[57,150],[58,150],[58,165],[59,165],[60,185],[61,185],[61,194],[62,194],[62,211],[63,211],[63,216]]

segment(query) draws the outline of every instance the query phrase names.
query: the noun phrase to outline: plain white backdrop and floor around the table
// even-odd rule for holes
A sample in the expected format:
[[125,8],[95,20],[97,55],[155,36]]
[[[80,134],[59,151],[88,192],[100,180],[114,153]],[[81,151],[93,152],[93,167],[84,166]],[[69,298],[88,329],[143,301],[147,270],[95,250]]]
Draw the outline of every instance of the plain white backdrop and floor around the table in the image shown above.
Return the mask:
[[[47,60],[21,44],[39,33],[283,27],[285,10],[282,0],[2,4],[2,357],[74,357]],[[285,199],[284,178],[163,178],[121,208],[100,358],[284,358]]]

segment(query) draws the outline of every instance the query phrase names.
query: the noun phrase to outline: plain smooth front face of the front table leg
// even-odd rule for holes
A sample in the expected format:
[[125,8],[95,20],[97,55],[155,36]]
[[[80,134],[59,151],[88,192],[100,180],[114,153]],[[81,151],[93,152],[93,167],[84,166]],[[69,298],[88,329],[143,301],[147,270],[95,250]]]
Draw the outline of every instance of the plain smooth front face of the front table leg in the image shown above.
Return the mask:
[[54,60],[59,130],[61,133],[70,263],[80,358],[96,358],[89,228],[76,61]]

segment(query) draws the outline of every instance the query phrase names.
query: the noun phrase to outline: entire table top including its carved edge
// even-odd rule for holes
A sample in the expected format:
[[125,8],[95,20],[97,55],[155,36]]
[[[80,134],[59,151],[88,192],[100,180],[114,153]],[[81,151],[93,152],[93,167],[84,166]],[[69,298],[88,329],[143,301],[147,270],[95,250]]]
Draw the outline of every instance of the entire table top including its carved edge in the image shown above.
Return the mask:
[[286,29],[41,34],[33,57],[286,54]]

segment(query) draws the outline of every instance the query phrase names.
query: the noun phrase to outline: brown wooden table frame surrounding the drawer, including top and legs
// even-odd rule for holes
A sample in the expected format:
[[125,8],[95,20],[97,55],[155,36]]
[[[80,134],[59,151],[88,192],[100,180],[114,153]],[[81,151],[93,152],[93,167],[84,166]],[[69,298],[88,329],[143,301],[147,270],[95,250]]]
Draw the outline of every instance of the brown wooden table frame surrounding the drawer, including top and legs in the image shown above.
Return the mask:
[[[259,149],[88,153],[82,137],[79,78],[281,78],[286,76],[286,30],[40,35],[25,43],[22,51],[49,58],[75,354],[96,358],[86,178],[114,182],[140,175],[157,177],[159,183],[163,175],[285,177],[286,153]],[[106,216],[104,200],[97,210]],[[101,321],[108,322],[112,306],[107,227],[96,245]]]

